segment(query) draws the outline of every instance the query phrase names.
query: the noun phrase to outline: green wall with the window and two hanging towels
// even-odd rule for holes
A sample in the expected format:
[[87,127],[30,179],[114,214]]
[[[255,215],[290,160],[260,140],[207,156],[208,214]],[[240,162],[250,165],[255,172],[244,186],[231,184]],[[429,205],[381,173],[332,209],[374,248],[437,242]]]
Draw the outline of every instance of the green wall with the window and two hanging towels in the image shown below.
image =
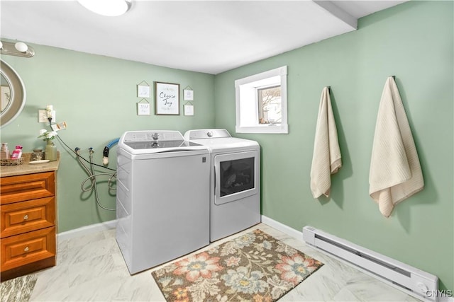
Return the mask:
[[[288,66],[289,134],[236,134],[262,146],[262,214],[301,231],[320,228],[436,274],[454,289],[453,2],[411,1],[358,30],[216,75],[216,127],[235,134],[234,81]],[[389,219],[369,197],[378,105],[396,76],[426,187]],[[321,90],[331,86],[343,168],[331,198],[309,187]]]

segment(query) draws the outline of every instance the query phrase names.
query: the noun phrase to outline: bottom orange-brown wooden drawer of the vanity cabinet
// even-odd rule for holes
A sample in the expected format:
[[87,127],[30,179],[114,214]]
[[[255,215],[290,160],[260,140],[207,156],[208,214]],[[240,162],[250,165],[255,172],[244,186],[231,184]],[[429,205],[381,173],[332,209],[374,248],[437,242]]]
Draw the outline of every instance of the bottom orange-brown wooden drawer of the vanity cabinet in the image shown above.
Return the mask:
[[1,271],[55,257],[55,227],[1,239]]

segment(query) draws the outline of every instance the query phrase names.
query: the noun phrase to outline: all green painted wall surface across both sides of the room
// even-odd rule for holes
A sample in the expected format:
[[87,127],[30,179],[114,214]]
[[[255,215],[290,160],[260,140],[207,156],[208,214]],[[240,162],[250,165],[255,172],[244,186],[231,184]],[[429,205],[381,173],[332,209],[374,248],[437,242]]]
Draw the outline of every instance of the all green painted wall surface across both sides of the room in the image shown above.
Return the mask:
[[[382,252],[436,274],[441,289],[454,289],[453,36],[453,2],[411,1],[360,19],[353,33],[216,76],[32,45],[32,59],[1,58],[27,89],[26,107],[1,128],[1,141],[22,144],[24,151],[44,146],[36,138],[43,128],[38,109],[48,104],[57,121],[68,123],[62,139],[84,156],[93,147],[96,163],[104,146],[128,130],[216,125],[235,134],[234,81],[287,65],[290,133],[235,134],[262,146],[262,213],[298,231],[311,225]],[[380,95],[390,75],[397,79],[426,187],[385,219],[368,196],[368,173]],[[143,80],[194,88],[194,117],[137,116],[135,89]],[[317,200],[309,171],[323,86],[332,89],[343,168],[333,175],[331,198]],[[70,151],[57,146],[59,231],[115,219],[114,212],[96,207],[93,194],[82,193],[87,175]],[[99,178],[100,199],[115,207],[106,179]]]

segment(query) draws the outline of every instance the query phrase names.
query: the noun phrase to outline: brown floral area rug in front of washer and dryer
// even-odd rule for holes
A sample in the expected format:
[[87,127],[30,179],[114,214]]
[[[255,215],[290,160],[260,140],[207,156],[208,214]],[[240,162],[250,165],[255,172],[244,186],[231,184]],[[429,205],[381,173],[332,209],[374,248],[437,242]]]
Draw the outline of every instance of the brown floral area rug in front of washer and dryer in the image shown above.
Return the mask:
[[276,301],[323,263],[255,230],[152,272],[167,301]]

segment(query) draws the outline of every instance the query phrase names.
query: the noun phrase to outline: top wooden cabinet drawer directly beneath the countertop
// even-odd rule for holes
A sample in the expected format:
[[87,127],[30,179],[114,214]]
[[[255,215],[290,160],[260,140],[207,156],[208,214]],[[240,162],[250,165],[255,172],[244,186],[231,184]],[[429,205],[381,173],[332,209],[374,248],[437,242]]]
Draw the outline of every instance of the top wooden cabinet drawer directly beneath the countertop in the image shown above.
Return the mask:
[[1,178],[0,202],[11,204],[55,195],[55,172]]

